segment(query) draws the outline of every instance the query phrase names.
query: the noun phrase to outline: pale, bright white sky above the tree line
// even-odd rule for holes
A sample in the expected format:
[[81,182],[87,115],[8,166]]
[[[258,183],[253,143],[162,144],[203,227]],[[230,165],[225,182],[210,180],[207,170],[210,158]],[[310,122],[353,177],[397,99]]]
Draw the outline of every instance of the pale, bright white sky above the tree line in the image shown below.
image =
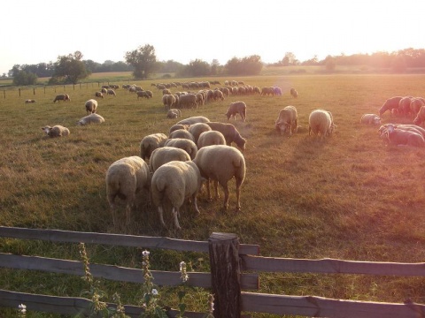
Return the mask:
[[125,61],[146,44],[158,61],[182,64],[425,49],[421,0],[13,0],[1,7],[0,75],[77,50],[100,64]]

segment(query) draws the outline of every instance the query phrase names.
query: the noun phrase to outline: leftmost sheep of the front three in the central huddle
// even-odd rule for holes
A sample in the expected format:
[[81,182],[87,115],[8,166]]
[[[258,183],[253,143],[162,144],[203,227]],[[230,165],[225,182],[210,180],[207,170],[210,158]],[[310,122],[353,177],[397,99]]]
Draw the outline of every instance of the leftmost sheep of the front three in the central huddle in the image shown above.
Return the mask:
[[[142,191],[150,192],[151,172],[148,164],[137,155],[121,158],[109,166],[105,182],[114,226],[117,224],[115,205],[117,196],[126,202],[126,226],[128,226],[131,208],[138,202],[137,196],[142,194]],[[149,198],[149,195],[147,197]]]

